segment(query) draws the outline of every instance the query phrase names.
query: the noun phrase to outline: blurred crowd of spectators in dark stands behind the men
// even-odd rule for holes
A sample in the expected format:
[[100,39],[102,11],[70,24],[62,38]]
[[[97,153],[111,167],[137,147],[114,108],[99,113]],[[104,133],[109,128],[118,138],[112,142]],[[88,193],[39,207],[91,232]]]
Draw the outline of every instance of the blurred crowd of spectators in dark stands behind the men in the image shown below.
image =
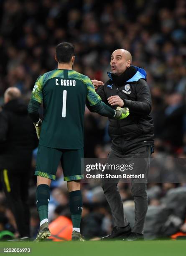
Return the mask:
[[[112,51],[120,48],[130,51],[132,65],[146,70],[152,94],[153,157],[186,157],[184,0],[0,1],[0,105],[3,105],[3,93],[10,86],[18,87],[28,102],[37,77],[57,67],[55,46],[62,41],[70,41],[75,46],[74,69],[103,82],[108,79]],[[107,118],[85,110],[85,157],[107,158],[110,151],[107,125]],[[33,154],[29,202],[32,236],[39,225],[35,207],[36,177],[33,175],[35,156],[36,152]],[[58,179],[51,185],[50,221],[59,215],[69,216],[66,183],[60,175],[59,166]],[[170,191],[185,187],[184,182],[148,184],[149,205],[158,209]],[[120,184],[119,189],[125,208],[131,206],[130,184]],[[109,233],[112,218],[102,188],[82,184],[82,192],[82,234],[92,238]],[[178,214],[175,216],[178,218]],[[185,217],[186,210],[183,210],[183,216],[179,216],[183,223]],[[3,192],[0,192],[0,231],[5,226],[13,232],[16,230]]]

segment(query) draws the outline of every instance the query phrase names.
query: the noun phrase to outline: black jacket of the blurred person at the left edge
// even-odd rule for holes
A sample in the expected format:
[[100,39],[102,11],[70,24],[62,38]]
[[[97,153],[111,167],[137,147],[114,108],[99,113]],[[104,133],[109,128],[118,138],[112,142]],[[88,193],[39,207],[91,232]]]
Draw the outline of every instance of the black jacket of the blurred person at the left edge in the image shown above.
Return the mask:
[[27,105],[21,100],[11,100],[0,112],[0,169],[18,169],[27,172],[32,151],[38,139]]

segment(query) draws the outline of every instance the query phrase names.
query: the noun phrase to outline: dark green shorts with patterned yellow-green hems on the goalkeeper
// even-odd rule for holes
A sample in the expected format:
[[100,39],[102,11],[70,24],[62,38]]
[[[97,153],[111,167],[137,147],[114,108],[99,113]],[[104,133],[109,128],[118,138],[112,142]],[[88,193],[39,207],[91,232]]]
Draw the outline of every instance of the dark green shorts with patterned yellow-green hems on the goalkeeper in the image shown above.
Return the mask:
[[56,179],[56,172],[61,161],[64,181],[83,179],[81,172],[81,159],[84,158],[83,148],[81,149],[59,149],[38,146],[35,175]]

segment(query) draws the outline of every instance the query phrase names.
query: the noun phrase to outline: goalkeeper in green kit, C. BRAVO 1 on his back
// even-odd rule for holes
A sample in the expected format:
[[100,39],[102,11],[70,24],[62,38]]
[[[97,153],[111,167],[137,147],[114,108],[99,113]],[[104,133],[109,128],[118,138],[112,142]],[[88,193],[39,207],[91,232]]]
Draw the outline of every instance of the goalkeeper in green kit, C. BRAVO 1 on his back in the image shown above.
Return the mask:
[[[84,178],[81,173],[81,158],[84,157],[83,123],[86,102],[92,112],[109,118],[124,119],[129,115],[127,108],[119,107],[114,110],[101,101],[89,77],[73,70],[74,59],[72,44],[61,43],[56,46],[55,60],[58,68],[38,77],[28,105],[28,113],[39,138],[35,175],[40,230],[35,241],[51,235],[48,229],[49,186],[51,179],[56,179],[59,161],[69,190],[72,240],[83,241],[79,229],[82,214],[79,181]],[[38,114],[41,102],[44,108],[43,122]]]

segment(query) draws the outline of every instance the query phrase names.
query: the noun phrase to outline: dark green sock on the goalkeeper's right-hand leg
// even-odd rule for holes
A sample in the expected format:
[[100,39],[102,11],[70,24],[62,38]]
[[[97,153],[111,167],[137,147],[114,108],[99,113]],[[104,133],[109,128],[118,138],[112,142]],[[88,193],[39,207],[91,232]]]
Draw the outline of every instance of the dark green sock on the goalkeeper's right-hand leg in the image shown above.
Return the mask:
[[81,190],[75,190],[69,193],[69,207],[71,211],[71,220],[73,231],[79,232],[82,219],[82,193]]

